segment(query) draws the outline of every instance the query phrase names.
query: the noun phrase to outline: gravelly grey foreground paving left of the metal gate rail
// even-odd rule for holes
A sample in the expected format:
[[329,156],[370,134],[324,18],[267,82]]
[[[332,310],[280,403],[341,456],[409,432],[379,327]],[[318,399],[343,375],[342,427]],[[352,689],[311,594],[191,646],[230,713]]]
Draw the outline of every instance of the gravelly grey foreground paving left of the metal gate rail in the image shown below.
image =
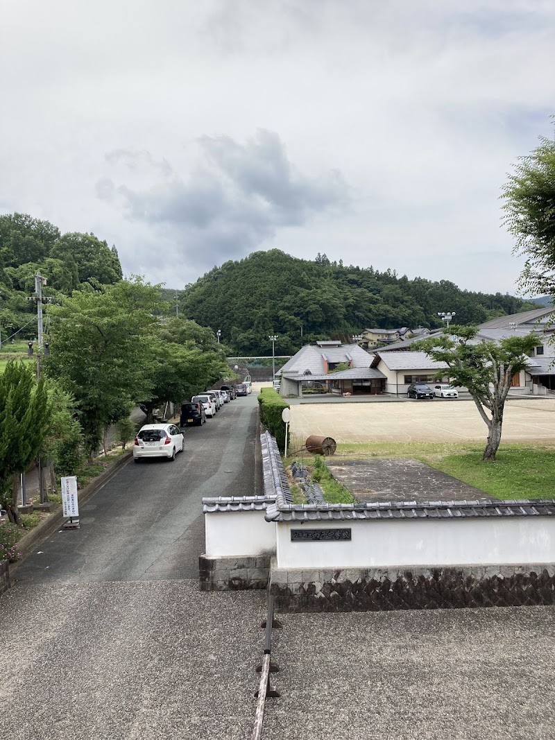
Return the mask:
[[16,585],[1,602],[0,738],[248,737],[264,596],[178,580]]

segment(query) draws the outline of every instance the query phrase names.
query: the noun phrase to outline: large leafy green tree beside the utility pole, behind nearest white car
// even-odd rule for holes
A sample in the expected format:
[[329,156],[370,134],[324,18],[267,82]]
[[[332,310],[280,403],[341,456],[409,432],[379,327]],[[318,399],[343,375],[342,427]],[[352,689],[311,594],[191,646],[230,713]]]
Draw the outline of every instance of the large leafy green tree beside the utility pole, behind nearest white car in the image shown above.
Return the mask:
[[89,286],[48,307],[50,356],[44,371],[75,398],[89,454],[105,426],[151,393],[154,313],[162,304],[159,286],[137,277],[99,289]]

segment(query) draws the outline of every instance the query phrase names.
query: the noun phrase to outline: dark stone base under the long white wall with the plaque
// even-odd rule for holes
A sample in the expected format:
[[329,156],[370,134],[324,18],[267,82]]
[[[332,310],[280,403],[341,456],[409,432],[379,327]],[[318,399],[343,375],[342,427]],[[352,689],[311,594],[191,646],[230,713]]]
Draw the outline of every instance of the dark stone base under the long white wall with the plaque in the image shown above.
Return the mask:
[[270,593],[289,612],[551,605],[555,564],[286,571],[274,557]]

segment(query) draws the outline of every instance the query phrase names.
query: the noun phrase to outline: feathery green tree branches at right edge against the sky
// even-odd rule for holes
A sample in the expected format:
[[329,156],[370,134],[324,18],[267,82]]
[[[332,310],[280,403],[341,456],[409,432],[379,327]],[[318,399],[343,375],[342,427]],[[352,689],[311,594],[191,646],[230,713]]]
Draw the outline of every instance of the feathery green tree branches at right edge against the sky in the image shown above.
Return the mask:
[[521,157],[503,188],[505,224],[516,238],[514,252],[524,255],[522,289],[535,295],[555,293],[555,140],[541,137]]

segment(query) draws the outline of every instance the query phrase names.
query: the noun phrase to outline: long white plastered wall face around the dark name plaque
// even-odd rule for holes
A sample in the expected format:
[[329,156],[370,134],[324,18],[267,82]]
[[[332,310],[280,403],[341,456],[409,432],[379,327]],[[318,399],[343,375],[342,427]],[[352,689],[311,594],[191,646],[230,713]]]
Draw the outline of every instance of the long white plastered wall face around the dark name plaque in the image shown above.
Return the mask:
[[[351,528],[351,542],[291,542],[291,530]],[[555,562],[555,517],[278,522],[278,568]]]

